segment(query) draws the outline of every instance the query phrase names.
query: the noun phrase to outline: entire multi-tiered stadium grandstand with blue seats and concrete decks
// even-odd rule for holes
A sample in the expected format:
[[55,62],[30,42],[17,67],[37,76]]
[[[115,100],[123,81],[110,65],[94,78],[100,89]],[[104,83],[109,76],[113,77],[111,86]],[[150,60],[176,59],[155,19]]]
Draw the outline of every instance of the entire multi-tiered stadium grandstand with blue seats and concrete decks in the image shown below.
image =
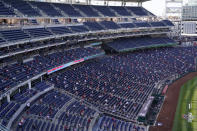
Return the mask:
[[0,0],[0,24],[3,131],[148,131],[196,71],[197,47],[141,6]]

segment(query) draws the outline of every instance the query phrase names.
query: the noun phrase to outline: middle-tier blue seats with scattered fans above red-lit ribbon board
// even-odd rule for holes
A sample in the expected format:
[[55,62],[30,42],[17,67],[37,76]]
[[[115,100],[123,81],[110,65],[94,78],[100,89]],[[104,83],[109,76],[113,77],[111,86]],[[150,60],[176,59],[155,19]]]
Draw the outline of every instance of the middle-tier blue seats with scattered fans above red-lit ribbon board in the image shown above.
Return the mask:
[[32,61],[23,64],[17,63],[5,66],[0,69],[0,92],[3,93],[9,88],[53,67],[92,56],[100,52],[100,50],[92,47],[75,48],[46,56],[35,56]]

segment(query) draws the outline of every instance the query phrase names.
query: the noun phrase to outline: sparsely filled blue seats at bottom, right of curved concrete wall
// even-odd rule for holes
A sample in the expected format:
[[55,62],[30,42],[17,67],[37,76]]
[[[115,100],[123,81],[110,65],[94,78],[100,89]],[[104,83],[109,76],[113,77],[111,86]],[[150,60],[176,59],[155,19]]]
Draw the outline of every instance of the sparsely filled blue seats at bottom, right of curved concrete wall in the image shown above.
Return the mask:
[[17,131],[88,131],[96,111],[65,93],[51,90],[23,112]]

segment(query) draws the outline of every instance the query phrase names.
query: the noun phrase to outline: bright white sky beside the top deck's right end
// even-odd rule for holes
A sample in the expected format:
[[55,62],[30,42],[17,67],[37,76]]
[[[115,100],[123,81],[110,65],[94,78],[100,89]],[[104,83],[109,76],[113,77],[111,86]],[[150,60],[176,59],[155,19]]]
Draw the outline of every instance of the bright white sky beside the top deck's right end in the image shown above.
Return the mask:
[[151,0],[143,3],[143,7],[157,16],[163,16],[165,13],[165,0]]

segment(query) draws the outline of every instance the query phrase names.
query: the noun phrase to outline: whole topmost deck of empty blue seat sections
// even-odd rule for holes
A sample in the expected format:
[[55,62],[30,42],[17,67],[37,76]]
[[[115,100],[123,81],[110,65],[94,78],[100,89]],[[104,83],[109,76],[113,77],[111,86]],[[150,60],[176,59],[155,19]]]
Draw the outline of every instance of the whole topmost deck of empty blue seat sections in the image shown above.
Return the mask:
[[49,17],[65,17],[64,14],[68,17],[102,17],[100,14],[105,17],[118,17],[132,16],[132,13],[137,16],[153,15],[142,7],[71,5],[37,1],[26,2],[23,0],[4,0],[4,2],[11,5],[11,7],[5,7],[3,3],[0,3],[0,12],[2,15],[8,16],[15,15],[12,8],[17,9],[27,17],[42,16],[40,10]]

